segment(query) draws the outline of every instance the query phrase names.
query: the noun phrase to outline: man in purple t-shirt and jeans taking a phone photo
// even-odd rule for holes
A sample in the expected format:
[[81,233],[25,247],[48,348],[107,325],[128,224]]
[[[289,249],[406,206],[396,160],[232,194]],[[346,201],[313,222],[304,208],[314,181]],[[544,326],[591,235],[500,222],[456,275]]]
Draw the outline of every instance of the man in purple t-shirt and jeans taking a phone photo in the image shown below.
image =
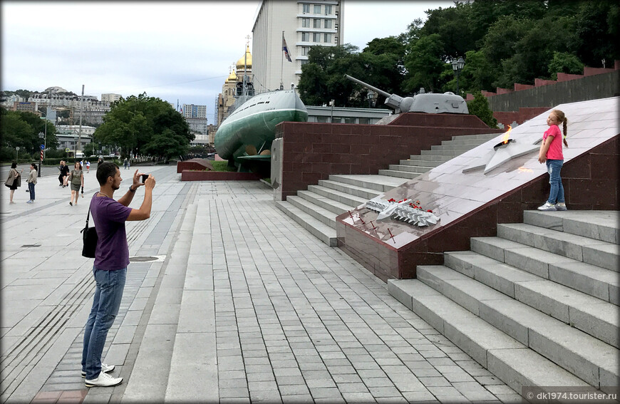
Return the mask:
[[[145,220],[150,217],[153,204],[155,177],[149,175],[145,182],[140,182],[138,170],[133,174],[133,184],[118,201],[113,199],[114,192],[120,188],[118,165],[103,162],[97,167],[97,180],[100,190],[91,200],[91,214],[97,229],[97,249],[93,276],[95,276],[95,296],[93,308],[86,321],[84,331],[84,348],[82,351],[82,377],[86,378],[86,387],[111,387],[123,382],[123,378],[108,375],[114,370],[113,365],[101,363],[101,355],[108,330],[118,314],[120,300],[125,289],[125,277],[129,264],[129,247],[125,222],[128,220]],[[138,187],[144,185],[144,201],[140,209],[132,209]]]

